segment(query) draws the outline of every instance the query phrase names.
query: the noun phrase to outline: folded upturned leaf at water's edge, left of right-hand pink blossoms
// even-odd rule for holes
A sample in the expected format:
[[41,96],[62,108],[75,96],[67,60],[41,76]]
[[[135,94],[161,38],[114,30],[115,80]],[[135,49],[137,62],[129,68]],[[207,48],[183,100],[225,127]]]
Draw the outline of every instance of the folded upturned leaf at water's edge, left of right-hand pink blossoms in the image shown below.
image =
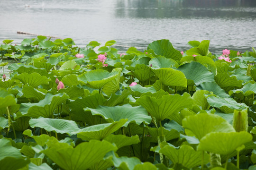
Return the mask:
[[208,54],[210,54],[209,44],[210,44],[209,40],[203,40],[203,41],[201,41],[199,46],[186,51],[186,54],[187,55],[195,54],[195,55],[207,56]]

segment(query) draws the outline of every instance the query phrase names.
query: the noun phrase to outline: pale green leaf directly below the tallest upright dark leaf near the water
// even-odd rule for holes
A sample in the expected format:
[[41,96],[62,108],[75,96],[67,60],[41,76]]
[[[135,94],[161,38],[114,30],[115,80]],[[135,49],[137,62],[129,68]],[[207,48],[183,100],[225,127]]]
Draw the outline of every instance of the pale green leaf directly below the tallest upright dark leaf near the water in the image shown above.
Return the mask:
[[151,59],[148,64],[152,65],[152,68],[158,69],[158,68],[170,68],[178,63],[173,59],[167,59],[163,56],[158,56],[156,58]]

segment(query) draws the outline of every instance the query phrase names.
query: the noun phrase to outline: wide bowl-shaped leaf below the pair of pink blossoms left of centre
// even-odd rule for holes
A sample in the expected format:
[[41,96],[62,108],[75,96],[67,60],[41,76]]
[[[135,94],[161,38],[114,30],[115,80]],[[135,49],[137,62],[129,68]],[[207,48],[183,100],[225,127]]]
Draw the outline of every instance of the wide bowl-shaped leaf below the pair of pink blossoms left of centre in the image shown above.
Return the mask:
[[89,85],[95,89],[101,89],[105,84],[114,80],[119,76],[119,72],[108,72],[106,70],[97,69],[91,70],[83,73],[80,76],[77,76],[77,79],[82,85]]

